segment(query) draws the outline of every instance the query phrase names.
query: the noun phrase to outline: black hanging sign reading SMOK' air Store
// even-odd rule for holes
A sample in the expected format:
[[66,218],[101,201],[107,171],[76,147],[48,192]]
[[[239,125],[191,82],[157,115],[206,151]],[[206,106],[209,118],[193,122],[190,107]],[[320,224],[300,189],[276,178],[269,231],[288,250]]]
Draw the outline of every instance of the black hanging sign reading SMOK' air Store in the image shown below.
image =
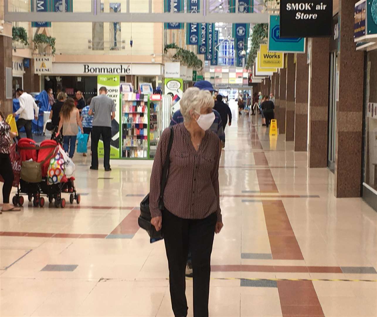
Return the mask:
[[329,37],[333,0],[280,0],[280,37]]

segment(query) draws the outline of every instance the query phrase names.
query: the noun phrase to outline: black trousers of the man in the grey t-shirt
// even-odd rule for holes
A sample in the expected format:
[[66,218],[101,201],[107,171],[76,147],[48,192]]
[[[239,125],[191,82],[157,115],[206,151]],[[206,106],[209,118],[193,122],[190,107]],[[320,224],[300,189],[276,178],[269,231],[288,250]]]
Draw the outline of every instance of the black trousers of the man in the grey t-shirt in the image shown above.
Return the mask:
[[98,142],[102,136],[103,166],[110,168],[111,128],[109,126],[93,126],[92,128],[92,168],[98,168]]

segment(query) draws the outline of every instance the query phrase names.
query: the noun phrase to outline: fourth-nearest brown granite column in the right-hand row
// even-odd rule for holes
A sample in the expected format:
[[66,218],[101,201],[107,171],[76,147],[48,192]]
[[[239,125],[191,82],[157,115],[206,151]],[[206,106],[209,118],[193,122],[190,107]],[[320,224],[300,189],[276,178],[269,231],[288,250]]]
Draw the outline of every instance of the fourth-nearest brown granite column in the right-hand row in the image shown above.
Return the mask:
[[294,82],[296,65],[294,54],[287,54],[286,109],[285,109],[285,141],[294,141]]

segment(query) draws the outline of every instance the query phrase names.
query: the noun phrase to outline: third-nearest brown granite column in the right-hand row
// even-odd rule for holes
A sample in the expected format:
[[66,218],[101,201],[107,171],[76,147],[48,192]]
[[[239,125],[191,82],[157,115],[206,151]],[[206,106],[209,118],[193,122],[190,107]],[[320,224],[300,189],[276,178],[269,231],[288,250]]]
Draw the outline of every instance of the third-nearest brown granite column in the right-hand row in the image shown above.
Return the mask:
[[309,65],[307,63],[307,54],[297,54],[294,151],[307,151],[308,148],[308,83]]

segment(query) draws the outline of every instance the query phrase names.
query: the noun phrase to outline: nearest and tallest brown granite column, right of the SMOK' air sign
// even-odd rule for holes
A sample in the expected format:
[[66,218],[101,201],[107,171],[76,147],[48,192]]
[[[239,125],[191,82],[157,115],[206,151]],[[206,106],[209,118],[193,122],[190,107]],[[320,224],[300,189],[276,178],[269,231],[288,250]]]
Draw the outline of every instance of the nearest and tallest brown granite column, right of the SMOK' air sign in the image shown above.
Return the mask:
[[[335,148],[336,197],[359,197],[361,186],[364,52],[356,51],[354,5],[339,1],[339,102]],[[351,88],[352,87],[352,88]]]

